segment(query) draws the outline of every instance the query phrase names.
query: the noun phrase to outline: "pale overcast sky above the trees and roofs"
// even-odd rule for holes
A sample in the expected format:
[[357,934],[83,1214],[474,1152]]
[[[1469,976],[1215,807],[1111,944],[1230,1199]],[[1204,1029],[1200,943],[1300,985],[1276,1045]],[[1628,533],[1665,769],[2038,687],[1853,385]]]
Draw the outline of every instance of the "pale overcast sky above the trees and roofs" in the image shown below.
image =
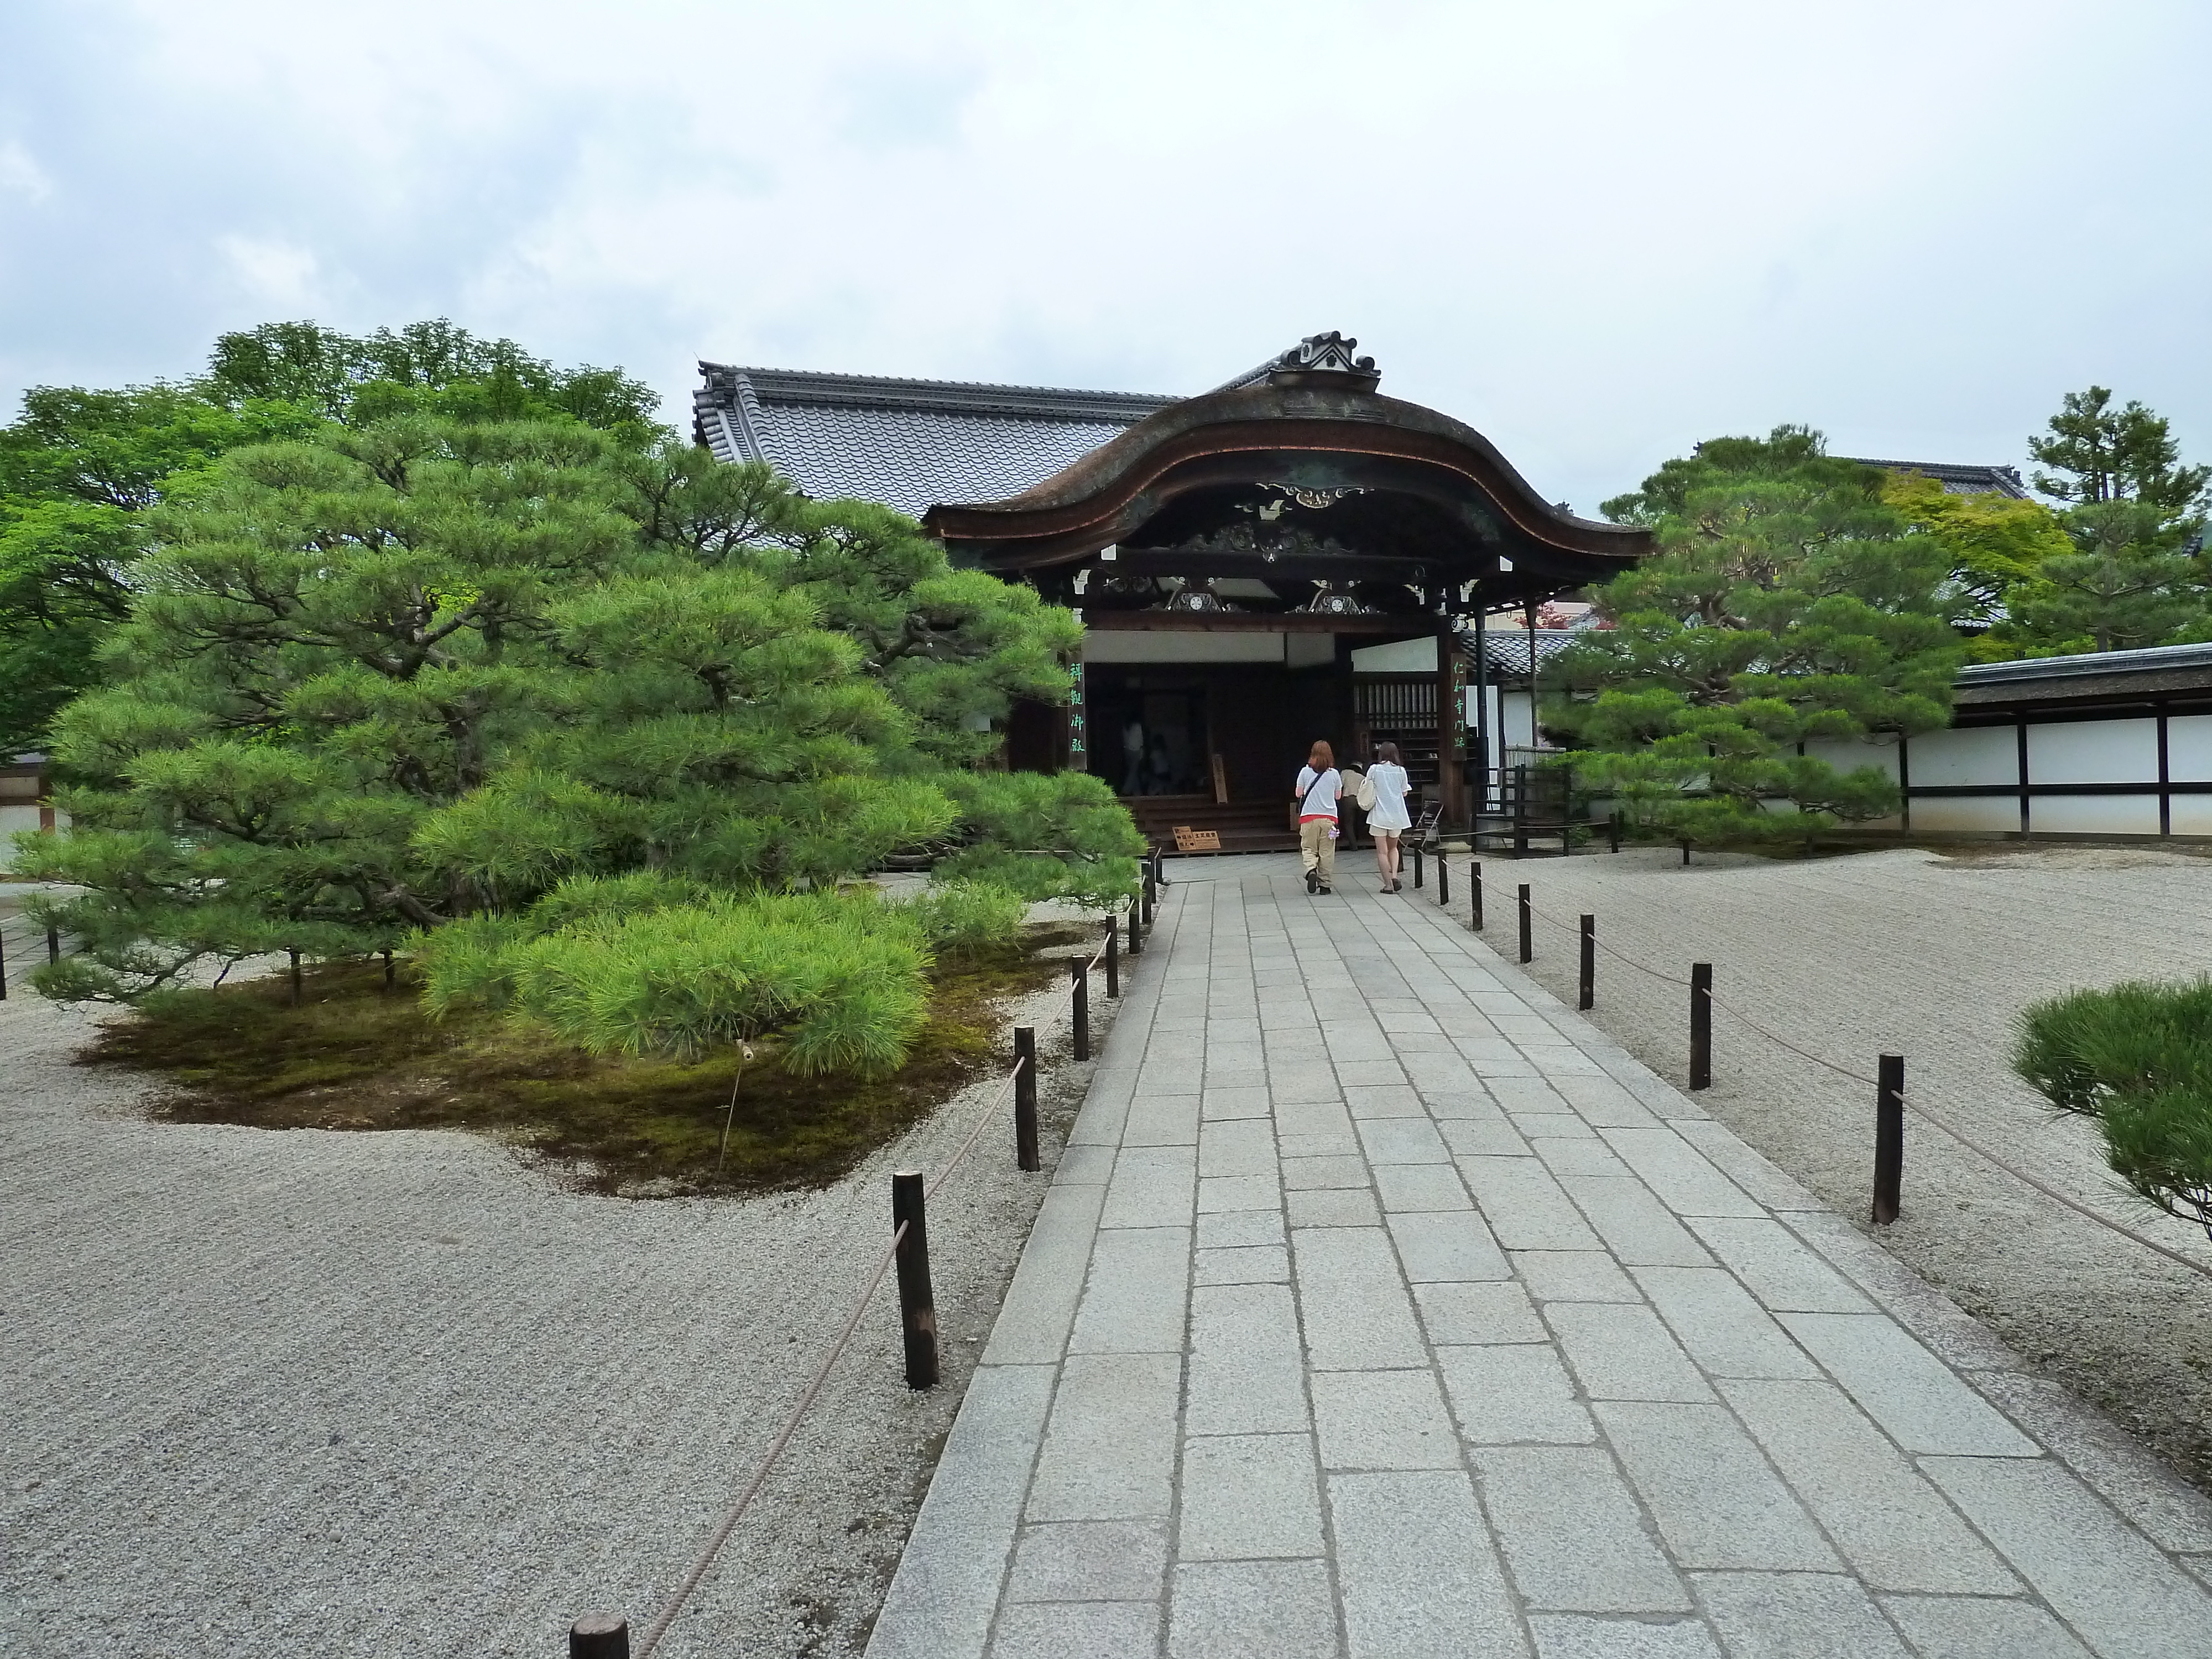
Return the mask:
[[0,0],[0,400],[272,319],[1199,392],[1316,330],[1593,511],[1719,431],[2212,460],[2212,4]]

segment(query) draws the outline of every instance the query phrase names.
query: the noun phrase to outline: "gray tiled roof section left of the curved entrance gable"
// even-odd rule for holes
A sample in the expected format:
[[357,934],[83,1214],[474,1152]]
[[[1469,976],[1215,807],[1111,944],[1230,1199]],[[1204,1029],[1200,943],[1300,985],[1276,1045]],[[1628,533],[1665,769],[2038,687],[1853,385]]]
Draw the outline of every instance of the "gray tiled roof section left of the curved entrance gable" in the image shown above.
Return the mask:
[[1175,403],[726,363],[699,372],[692,425],[719,460],[765,460],[816,500],[856,495],[914,515],[1020,495]]

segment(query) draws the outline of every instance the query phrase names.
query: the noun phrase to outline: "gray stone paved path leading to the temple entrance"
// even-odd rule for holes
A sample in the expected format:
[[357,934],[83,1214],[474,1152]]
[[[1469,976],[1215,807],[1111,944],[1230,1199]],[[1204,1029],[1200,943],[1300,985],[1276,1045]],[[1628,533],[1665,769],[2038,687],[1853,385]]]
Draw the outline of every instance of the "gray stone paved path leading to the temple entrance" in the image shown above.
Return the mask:
[[874,1659],[2212,1655],[2212,1506],[1460,922],[1177,874]]

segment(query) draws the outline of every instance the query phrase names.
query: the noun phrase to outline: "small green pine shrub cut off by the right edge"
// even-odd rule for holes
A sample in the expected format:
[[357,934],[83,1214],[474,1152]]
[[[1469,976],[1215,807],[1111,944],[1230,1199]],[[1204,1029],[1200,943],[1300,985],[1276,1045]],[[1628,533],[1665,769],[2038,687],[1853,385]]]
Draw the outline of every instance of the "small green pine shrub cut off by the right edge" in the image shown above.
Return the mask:
[[2020,1015],[2013,1068],[2059,1110],[2097,1119],[2135,1192],[2212,1237],[2212,978],[2037,1002]]

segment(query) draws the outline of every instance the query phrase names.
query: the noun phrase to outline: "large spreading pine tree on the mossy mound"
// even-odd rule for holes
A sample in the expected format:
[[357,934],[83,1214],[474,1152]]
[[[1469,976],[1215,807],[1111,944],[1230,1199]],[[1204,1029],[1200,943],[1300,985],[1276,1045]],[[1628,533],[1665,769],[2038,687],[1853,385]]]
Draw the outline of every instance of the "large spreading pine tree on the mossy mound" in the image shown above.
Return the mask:
[[88,889],[49,909],[84,940],[53,995],[411,949],[434,1002],[586,1046],[781,1031],[799,1068],[883,1068],[953,907],[843,880],[933,856],[1002,922],[1135,883],[1097,779],[971,770],[1015,697],[1066,695],[1075,619],[883,509],[573,418],[400,414],[237,449],[148,522],[113,684],[55,721],[77,827],[22,838]]

